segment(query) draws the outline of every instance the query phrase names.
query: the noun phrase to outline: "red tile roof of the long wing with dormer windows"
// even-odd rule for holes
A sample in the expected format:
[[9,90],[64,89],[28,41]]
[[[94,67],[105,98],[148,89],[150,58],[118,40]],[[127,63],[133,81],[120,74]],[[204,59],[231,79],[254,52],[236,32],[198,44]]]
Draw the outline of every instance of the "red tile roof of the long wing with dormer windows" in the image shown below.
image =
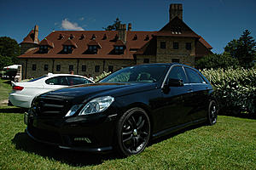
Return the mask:
[[[156,31],[127,31],[127,39],[125,43],[124,54],[112,54],[114,45],[119,44],[115,36],[119,35],[119,31],[53,31],[46,39],[54,43],[55,48],[49,49],[48,54],[38,54],[38,48],[20,55],[18,58],[60,58],[60,59],[133,59],[134,50],[142,48],[147,42],[152,39]],[[70,40],[70,35],[73,34],[73,39]],[[60,38],[60,35],[62,36]],[[82,35],[84,35],[84,38]],[[91,37],[95,35],[95,41],[98,42],[100,48],[97,54],[84,54],[88,49],[88,44],[92,41]],[[137,35],[137,40],[133,38]],[[149,37],[145,40],[145,37]],[[106,38],[107,37],[107,38]],[[73,49],[72,54],[61,54],[62,45],[76,44],[78,48]]]

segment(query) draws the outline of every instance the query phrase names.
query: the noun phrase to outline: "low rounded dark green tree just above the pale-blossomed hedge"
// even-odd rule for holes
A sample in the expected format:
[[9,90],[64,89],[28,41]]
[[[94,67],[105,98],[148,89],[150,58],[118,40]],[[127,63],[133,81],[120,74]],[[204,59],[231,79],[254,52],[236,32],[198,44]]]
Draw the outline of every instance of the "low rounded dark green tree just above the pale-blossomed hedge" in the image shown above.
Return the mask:
[[230,54],[209,54],[195,62],[198,69],[218,69],[218,68],[230,68],[237,67],[238,60],[232,58]]

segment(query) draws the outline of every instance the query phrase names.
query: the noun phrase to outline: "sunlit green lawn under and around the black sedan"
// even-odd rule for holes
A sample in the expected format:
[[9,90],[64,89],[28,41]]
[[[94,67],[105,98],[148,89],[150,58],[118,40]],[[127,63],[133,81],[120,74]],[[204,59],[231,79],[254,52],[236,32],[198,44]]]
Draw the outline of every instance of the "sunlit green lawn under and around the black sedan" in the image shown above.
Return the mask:
[[212,127],[175,133],[127,158],[38,144],[25,128],[20,109],[0,106],[0,169],[256,169],[256,120],[251,119],[218,116]]

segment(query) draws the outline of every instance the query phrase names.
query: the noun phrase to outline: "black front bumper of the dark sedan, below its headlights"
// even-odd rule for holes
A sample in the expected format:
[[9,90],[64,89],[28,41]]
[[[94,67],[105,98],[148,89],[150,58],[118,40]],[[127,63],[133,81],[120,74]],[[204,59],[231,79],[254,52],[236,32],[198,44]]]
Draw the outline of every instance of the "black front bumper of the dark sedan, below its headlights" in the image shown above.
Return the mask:
[[113,149],[116,115],[94,120],[48,119],[25,114],[26,133],[61,149],[100,152]]

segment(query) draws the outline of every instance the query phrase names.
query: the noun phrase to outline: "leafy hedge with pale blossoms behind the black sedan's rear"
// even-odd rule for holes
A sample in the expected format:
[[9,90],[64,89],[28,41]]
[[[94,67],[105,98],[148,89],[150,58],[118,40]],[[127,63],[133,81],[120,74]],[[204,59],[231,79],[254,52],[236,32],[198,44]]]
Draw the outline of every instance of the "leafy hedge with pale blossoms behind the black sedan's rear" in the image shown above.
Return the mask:
[[226,115],[247,113],[255,116],[256,69],[203,70],[215,88],[220,111]]

